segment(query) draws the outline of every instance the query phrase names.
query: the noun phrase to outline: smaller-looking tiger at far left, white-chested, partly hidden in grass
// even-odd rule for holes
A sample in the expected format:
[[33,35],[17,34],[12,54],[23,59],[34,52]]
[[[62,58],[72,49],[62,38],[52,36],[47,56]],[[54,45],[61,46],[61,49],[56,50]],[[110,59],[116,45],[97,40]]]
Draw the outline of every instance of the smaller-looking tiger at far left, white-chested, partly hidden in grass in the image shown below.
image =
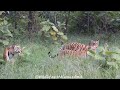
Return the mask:
[[15,54],[20,54],[22,52],[22,48],[19,45],[11,45],[4,49],[3,59],[5,61],[9,61],[14,57]]

